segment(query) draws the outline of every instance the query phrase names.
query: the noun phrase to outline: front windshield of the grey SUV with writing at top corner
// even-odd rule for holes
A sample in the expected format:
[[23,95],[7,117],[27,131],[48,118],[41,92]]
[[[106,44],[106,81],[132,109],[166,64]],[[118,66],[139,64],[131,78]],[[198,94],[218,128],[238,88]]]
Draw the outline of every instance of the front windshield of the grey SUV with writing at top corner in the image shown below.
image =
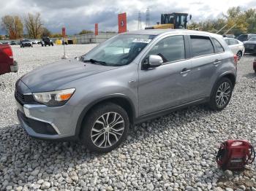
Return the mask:
[[154,39],[154,35],[117,35],[84,55],[83,61],[104,63],[105,66],[124,66],[131,63],[151,39]]

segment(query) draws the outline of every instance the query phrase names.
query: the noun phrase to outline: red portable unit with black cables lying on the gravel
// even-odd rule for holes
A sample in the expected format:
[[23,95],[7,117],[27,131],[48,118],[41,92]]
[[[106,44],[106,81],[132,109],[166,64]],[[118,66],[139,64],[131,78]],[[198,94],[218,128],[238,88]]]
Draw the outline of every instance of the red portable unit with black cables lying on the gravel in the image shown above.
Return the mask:
[[223,170],[244,170],[245,165],[255,160],[255,149],[244,140],[228,140],[219,147],[217,164]]

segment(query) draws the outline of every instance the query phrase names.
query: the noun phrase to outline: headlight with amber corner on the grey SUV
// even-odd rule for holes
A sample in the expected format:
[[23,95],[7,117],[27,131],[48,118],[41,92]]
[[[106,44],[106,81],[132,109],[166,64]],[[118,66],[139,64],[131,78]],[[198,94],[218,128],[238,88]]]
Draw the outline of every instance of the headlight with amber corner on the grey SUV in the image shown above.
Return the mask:
[[52,92],[33,93],[33,97],[39,103],[46,106],[63,106],[75,92],[75,88],[56,90]]

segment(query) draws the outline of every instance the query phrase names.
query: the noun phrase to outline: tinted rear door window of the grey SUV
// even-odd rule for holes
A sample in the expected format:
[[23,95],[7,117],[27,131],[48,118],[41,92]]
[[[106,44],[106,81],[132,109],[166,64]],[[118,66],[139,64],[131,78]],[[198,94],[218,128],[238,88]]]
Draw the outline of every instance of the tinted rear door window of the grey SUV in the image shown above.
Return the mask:
[[208,36],[190,36],[192,43],[192,56],[214,54],[214,46]]

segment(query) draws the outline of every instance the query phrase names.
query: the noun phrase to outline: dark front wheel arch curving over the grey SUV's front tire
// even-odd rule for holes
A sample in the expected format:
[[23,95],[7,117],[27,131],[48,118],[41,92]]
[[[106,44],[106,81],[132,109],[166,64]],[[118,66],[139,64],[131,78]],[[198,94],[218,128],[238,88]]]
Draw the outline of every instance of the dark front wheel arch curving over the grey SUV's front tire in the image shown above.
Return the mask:
[[118,106],[121,106],[127,112],[130,123],[134,124],[135,106],[134,104],[132,104],[131,99],[127,97],[127,95],[122,95],[122,94],[108,95],[103,98],[99,98],[96,101],[91,102],[91,104],[89,104],[83,109],[83,111],[80,113],[80,116],[78,117],[78,122],[75,128],[75,136],[79,137],[83,120],[85,119],[86,114],[91,112],[91,109],[93,109],[95,106],[98,106],[99,104],[104,104],[106,102],[111,102],[113,104],[117,104]]

